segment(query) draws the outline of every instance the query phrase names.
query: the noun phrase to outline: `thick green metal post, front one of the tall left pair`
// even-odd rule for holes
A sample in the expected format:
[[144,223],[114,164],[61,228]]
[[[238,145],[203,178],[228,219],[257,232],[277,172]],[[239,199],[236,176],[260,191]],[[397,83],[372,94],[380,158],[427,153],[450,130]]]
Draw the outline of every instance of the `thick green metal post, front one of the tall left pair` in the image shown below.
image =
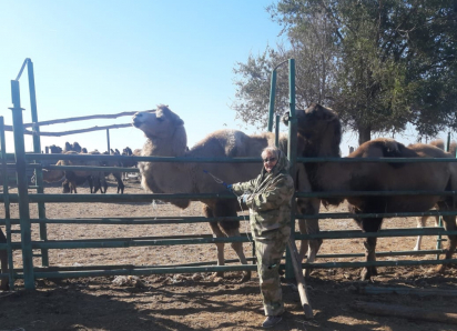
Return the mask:
[[32,239],[28,183],[26,173],[26,147],[23,140],[23,122],[19,81],[11,81],[12,130],[14,136],[16,173],[18,180],[19,219],[21,225],[23,280],[27,290],[34,290]]

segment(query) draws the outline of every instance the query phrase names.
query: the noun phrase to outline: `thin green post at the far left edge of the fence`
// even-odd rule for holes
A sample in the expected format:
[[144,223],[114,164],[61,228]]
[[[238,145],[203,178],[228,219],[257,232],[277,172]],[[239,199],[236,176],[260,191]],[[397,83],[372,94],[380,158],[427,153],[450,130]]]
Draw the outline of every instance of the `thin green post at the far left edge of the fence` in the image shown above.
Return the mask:
[[4,120],[0,117],[0,148],[1,148],[1,171],[3,180],[3,205],[4,205],[4,222],[7,228],[7,255],[8,255],[8,278],[10,280],[10,291],[14,291],[14,265],[12,263],[11,248],[11,213],[10,213],[10,193],[8,188],[8,165],[7,165],[7,143],[4,141]]

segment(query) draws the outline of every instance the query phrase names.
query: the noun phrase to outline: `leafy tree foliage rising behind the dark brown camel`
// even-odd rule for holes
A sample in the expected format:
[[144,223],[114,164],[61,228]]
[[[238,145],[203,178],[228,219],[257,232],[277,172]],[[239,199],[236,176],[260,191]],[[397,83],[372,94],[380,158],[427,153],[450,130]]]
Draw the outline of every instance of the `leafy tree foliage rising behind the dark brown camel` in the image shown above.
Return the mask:
[[[359,143],[373,132],[400,132],[408,122],[425,137],[457,127],[456,1],[281,0],[267,10],[291,47],[237,63],[233,108],[240,114],[238,106],[245,107],[242,119],[266,117],[271,69],[295,58],[297,106],[332,107]],[[254,72],[265,80],[263,103],[260,92],[243,90],[257,80]]]

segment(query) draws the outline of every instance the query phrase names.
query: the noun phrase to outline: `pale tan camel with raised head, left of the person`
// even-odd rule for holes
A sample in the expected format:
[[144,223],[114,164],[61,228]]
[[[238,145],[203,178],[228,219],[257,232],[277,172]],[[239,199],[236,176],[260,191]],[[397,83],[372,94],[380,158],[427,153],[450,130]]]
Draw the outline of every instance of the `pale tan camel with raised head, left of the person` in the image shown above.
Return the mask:
[[[155,112],[138,112],[133,117],[133,126],[142,130],[146,142],[141,156],[154,157],[186,157],[186,158],[241,158],[260,157],[262,150],[274,144],[274,133],[266,132],[257,136],[247,136],[237,130],[219,130],[210,133],[190,150],[186,149],[186,132],[184,121],[166,106],[159,106]],[[282,139],[284,146],[285,139]],[[283,147],[284,150],[284,147]],[[169,163],[169,162],[139,162],[143,189],[154,193],[226,193],[221,183],[213,180],[210,172],[227,183],[247,181],[255,178],[262,167],[254,163]],[[301,190],[309,189],[304,167],[297,167],[296,179]],[[302,199],[301,199],[302,200]],[[170,201],[179,208],[185,209],[190,200],[173,199]],[[235,199],[201,200],[205,217],[235,217],[240,205]],[[315,205],[315,203],[301,203]],[[317,210],[315,212],[318,211]],[[220,221],[210,222],[214,238],[240,237],[240,222]],[[216,243],[217,265],[224,265],[224,243]],[[241,263],[246,264],[246,258],[241,242],[232,243]],[[223,273],[216,273],[222,277]],[[242,281],[251,278],[251,272],[244,272]]]

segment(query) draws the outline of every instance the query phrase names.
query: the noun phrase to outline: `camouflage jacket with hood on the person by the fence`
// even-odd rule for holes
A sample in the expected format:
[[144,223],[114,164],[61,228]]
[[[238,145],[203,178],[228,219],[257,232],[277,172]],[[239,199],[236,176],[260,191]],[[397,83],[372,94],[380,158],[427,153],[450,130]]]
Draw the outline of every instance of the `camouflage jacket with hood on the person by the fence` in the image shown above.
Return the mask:
[[247,182],[233,184],[237,195],[247,194],[251,231],[254,238],[265,237],[265,232],[290,227],[291,199],[294,180],[288,174],[288,161],[283,152],[272,172],[262,169],[261,174]]

